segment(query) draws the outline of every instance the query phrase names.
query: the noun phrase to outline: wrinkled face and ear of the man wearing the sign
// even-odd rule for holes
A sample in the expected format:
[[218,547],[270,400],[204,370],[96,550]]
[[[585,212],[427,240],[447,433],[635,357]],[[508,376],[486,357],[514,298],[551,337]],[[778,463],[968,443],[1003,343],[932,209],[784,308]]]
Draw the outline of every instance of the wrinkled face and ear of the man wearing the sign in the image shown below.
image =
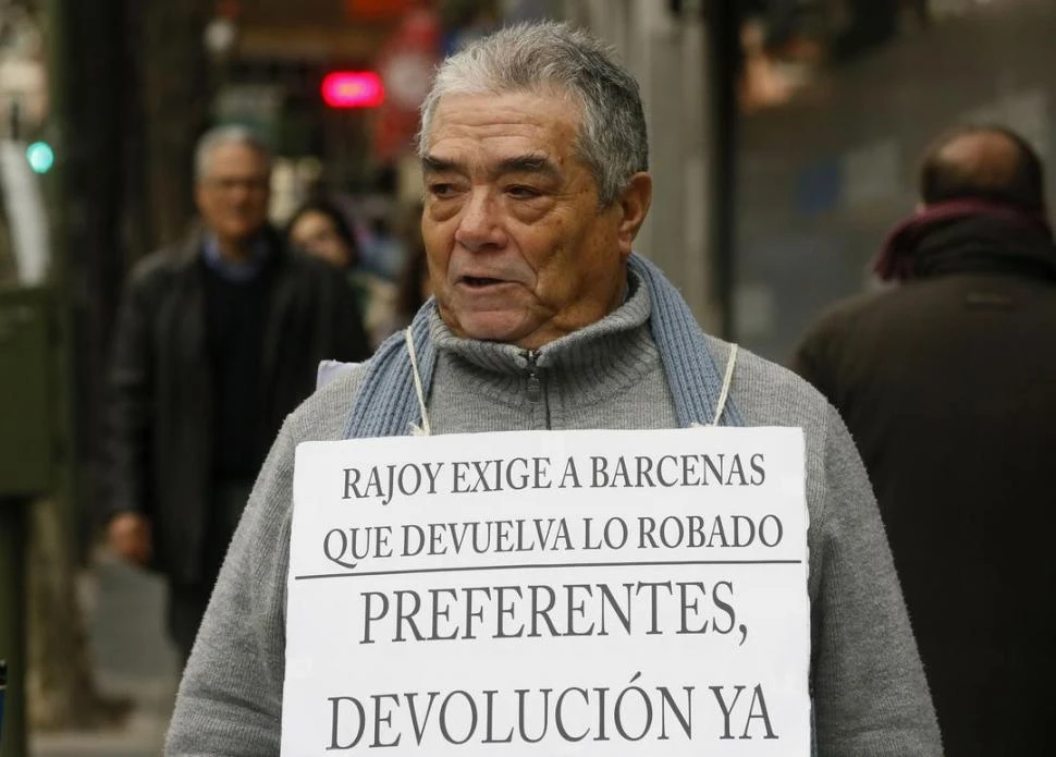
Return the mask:
[[421,229],[455,334],[535,350],[619,304],[649,176],[600,207],[575,152],[578,130],[578,109],[561,97],[441,99],[426,137]]

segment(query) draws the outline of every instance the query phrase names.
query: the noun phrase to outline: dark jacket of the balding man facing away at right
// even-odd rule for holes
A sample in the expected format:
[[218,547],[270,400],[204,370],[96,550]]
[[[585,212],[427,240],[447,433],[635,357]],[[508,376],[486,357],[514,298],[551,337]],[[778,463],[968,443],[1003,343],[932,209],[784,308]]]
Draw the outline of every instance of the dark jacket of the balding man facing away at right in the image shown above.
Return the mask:
[[795,368],[865,462],[947,754],[1047,754],[1056,249],[1036,228],[966,218],[910,252],[912,278],[836,306]]

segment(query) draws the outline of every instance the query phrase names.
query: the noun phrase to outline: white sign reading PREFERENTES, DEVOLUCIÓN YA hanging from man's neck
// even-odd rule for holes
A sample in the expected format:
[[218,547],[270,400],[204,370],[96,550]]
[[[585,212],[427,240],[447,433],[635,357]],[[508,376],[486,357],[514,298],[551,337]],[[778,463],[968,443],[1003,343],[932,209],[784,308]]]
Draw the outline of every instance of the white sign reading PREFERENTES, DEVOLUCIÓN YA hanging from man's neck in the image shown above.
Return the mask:
[[803,437],[297,448],[282,754],[810,753]]

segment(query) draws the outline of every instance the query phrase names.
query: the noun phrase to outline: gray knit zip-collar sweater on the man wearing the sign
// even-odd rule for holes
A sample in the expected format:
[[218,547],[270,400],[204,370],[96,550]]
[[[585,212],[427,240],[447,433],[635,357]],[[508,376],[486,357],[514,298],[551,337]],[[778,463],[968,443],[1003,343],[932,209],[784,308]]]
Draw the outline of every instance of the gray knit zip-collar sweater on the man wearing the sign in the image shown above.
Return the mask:
[[[677,425],[639,286],[605,319],[539,353],[529,393],[514,346],[454,337],[433,316],[433,434]],[[720,366],[729,345],[712,340]],[[279,754],[294,451],[341,439],[357,367],[285,423],[254,488],[184,673],[171,757]],[[938,728],[865,472],[843,422],[790,373],[740,353],[732,400],[746,425],[801,426],[810,513],[811,687],[822,756],[941,755]]]

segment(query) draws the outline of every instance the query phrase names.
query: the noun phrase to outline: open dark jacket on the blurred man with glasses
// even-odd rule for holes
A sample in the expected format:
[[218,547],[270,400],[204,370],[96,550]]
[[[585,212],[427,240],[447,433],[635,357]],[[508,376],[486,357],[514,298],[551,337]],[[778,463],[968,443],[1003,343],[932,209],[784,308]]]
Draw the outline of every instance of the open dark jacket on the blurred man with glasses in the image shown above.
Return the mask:
[[[272,277],[261,355],[265,450],[307,398],[319,362],[365,359],[367,340],[344,278],[288,253],[267,232]],[[109,375],[107,515],[151,520],[157,567],[177,583],[202,576],[214,461],[202,233],[135,266],[118,317]]]

